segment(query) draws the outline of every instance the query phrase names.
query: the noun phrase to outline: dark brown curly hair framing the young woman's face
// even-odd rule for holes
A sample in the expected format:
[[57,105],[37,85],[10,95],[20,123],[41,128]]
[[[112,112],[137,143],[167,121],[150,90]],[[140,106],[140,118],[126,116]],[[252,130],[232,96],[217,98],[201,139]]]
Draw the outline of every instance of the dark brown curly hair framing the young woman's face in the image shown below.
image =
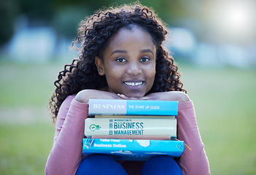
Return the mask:
[[[77,41],[79,58],[66,65],[54,82],[56,86],[50,98],[50,110],[58,115],[62,102],[69,95],[85,89],[99,89],[107,86],[106,77],[98,74],[95,58],[102,59],[109,37],[120,28],[139,26],[152,36],[157,48],[155,81],[149,93],[165,91],[183,91],[179,79],[178,66],[174,58],[163,48],[168,30],[152,9],[141,4],[129,4],[116,8],[101,9],[96,14],[79,23]],[[74,45],[73,45],[74,46]]]

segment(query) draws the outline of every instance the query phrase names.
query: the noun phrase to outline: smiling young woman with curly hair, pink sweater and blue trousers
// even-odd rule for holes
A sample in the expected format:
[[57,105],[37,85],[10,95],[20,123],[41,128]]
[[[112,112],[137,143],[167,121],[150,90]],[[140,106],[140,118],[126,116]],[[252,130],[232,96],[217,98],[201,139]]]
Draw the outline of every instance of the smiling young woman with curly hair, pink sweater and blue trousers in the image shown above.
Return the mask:
[[[46,174],[210,174],[193,102],[182,88],[174,58],[163,49],[168,33],[147,7],[125,5],[98,12],[79,26],[79,59],[66,65],[50,101],[55,139]],[[88,100],[179,101],[177,139],[182,156],[156,156],[146,162],[116,162],[107,155],[82,155]]]

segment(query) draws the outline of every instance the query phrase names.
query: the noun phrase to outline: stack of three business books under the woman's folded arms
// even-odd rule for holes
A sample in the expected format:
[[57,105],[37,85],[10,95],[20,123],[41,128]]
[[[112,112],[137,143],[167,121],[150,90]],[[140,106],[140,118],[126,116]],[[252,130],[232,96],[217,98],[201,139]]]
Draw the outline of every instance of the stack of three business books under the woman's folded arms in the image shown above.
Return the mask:
[[177,141],[177,114],[178,101],[90,99],[82,153],[116,160],[179,157],[184,141]]

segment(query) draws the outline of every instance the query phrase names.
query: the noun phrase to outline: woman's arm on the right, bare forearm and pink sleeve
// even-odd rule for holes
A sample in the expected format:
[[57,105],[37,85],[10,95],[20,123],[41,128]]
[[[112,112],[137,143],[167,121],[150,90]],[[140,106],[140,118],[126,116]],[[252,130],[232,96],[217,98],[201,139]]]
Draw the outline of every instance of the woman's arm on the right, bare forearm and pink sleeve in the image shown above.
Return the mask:
[[[121,96],[121,95],[120,95]],[[121,96],[122,98],[127,98]],[[210,174],[209,162],[204,151],[203,142],[198,130],[195,118],[195,109],[190,98],[182,92],[170,91],[163,93],[151,93],[140,98],[141,100],[163,100],[179,101],[179,111],[177,115],[177,139],[185,141],[192,150],[185,147],[185,151],[178,159],[183,174]]]

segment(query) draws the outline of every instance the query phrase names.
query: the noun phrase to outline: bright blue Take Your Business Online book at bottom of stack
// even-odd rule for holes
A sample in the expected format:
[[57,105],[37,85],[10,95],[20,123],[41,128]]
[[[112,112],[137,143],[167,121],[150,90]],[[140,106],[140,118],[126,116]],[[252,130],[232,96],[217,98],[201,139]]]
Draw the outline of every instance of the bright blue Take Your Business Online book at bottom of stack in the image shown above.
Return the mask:
[[112,155],[115,160],[144,161],[154,155],[179,157],[184,152],[184,141],[83,139],[82,154]]

